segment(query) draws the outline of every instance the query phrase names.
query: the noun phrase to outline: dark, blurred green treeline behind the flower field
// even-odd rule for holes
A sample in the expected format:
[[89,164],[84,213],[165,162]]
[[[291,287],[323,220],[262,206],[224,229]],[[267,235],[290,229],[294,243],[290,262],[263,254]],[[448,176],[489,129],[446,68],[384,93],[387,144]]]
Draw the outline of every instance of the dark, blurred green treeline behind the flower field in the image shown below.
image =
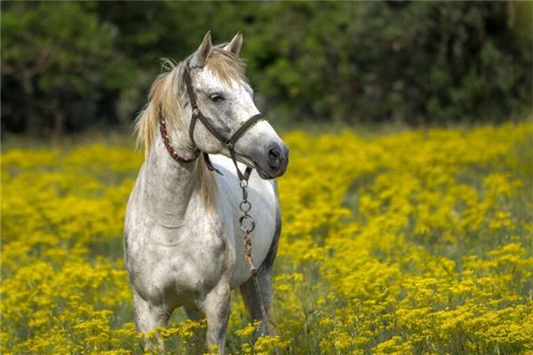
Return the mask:
[[268,114],[499,122],[531,106],[531,5],[2,2],[2,131],[130,125],[163,57],[242,30]]

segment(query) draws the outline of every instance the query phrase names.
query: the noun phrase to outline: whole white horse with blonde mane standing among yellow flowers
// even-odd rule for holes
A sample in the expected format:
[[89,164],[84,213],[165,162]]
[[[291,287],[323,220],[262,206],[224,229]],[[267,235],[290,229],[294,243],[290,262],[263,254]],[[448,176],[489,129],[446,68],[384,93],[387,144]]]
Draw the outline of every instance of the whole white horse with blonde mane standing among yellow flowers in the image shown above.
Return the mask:
[[[146,161],[124,231],[138,331],[166,326],[171,312],[184,306],[190,318],[207,318],[207,343],[219,353],[232,288],[240,287],[251,318],[261,320],[259,334],[268,330],[260,300],[268,310],[281,221],[275,182],[267,180],[285,172],[289,154],[253,102],[238,57],[242,44],[238,33],[213,46],[208,32],[195,53],[177,65],[167,62],[153,83],[137,122]],[[212,163],[207,154],[217,154]],[[237,165],[249,167],[244,175],[255,169],[248,201],[260,295],[245,260]],[[245,178],[240,171],[238,177]]]

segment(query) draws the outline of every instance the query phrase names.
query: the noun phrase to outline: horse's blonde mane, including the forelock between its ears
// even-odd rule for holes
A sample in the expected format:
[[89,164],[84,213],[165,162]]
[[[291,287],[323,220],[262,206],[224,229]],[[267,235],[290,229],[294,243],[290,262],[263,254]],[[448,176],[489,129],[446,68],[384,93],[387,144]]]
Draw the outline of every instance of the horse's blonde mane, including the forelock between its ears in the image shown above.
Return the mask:
[[[137,145],[144,146],[145,159],[154,145],[158,132],[159,106],[163,109],[165,123],[169,133],[179,130],[188,130],[183,117],[183,106],[187,99],[187,90],[182,83],[183,71],[187,60],[176,64],[170,59],[163,60],[162,73],[157,76],[148,94],[147,106],[140,112],[135,123]],[[244,64],[229,51],[224,51],[222,46],[212,49],[211,55],[205,66],[214,75],[228,85],[232,81],[244,80]],[[216,201],[216,182],[210,170],[206,169],[203,154],[198,160],[198,188],[200,195],[207,207],[213,207]]]

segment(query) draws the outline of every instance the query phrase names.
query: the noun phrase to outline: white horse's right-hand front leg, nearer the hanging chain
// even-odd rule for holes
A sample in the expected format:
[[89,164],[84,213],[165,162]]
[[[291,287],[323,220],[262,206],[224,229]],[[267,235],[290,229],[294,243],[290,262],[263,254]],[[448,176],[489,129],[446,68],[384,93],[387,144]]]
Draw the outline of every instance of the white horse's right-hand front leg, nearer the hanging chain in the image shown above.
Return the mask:
[[215,345],[224,354],[227,320],[229,319],[230,288],[226,281],[219,282],[205,297],[203,312],[207,318],[207,344]]

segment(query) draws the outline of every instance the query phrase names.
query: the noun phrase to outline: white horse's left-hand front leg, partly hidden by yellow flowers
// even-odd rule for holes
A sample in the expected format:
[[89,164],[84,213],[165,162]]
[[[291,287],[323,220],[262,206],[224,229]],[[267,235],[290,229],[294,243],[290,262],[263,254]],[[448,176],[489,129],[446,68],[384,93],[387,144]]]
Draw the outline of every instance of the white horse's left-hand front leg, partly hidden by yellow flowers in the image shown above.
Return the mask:
[[169,312],[148,304],[135,290],[133,291],[133,312],[137,331],[143,335],[144,350],[165,351],[163,341],[156,336],[148,336],[148,332],[157,327],[166,327],[170,318]]

